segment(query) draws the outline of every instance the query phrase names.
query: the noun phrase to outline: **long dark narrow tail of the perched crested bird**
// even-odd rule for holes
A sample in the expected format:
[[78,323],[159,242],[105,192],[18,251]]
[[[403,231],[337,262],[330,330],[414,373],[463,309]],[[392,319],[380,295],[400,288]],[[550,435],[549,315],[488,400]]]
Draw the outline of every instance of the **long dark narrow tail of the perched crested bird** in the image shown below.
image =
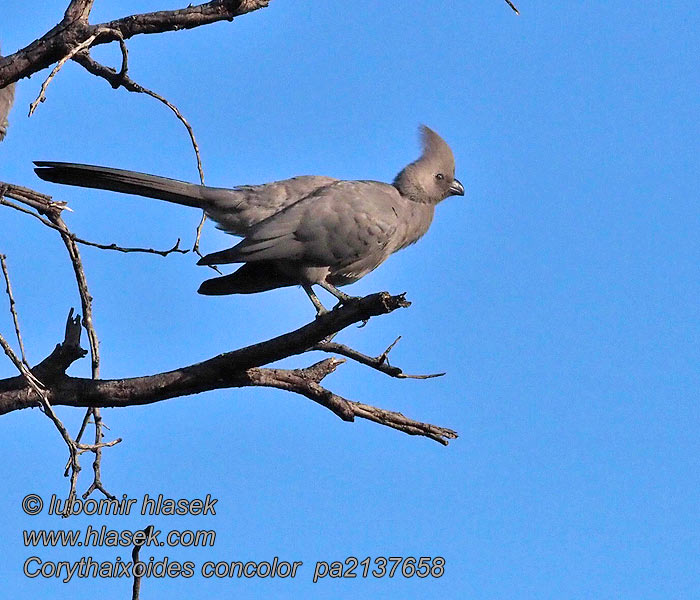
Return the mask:
[[206,208],[208,204],[202,197],[204,186],[176,179],[77,163],[35,161],[34,164],[37,167],[34,171],[45,181],[136,194],[197,208]]

